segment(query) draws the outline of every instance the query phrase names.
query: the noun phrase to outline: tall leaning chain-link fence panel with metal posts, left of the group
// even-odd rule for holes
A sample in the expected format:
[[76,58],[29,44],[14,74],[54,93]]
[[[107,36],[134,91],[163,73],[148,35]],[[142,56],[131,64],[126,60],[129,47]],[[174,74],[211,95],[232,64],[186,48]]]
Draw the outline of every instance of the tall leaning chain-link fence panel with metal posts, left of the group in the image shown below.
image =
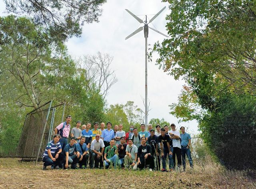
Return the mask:
[[23,160],[41,159],[46,144],[54,135],[53,129],[63,121],[65,103],[52,107],[52,101],[45,103],[26,115],[16,156]]

